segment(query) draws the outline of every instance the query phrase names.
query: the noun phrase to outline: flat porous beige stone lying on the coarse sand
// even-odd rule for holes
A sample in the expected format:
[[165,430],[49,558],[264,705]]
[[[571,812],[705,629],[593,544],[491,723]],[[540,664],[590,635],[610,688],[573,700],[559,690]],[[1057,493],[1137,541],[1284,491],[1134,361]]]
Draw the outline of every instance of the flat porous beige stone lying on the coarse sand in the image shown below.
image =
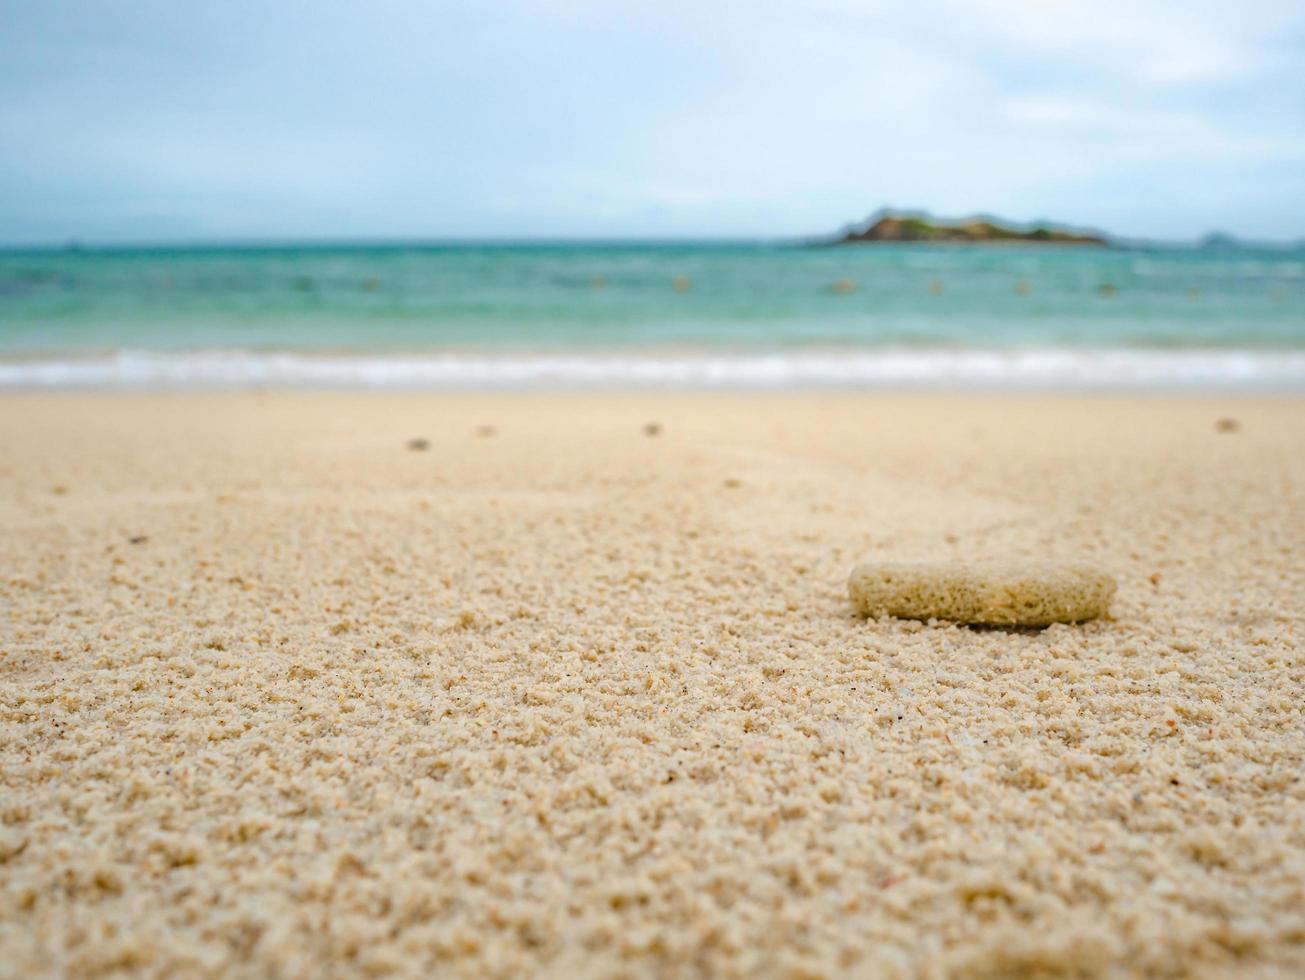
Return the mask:
[[847,590],[865,616],[951,620],[988,626],[1049,626],[1104,616],[1114,578],[1056,561],[868,562]]

